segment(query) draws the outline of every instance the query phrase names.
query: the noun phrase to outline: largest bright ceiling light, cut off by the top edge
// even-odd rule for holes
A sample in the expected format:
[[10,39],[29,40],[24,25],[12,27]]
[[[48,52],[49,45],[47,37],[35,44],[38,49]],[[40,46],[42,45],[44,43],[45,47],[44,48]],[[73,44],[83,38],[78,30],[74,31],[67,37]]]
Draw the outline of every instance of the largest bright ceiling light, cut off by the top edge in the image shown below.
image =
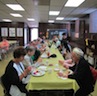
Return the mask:
[[78,7],[81,5],[85,0],[68,0],[65,4],[66,7]]

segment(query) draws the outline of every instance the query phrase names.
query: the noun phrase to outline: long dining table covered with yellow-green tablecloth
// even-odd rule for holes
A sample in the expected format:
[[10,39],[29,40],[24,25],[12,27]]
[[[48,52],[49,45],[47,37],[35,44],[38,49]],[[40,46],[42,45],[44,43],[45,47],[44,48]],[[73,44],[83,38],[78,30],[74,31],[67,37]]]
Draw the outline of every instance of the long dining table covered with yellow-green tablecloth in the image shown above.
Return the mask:
[[[79,86],[74,79],[69,78],[60,78],[57,74],[56,67],[59,66],[60,69],[64,69],[59,64],[59,60],[64,60],[62,54],[59,50],[52,45],[49,49],[51,54],[56,54],[56,58],[43,58],[42,63],[47,65],[47,71],[42,76],[31,76],[26,88],[28,91],[30,90],[69,90],[73,89],[76,91]],[[49,66],[52,64],[53,66]]]

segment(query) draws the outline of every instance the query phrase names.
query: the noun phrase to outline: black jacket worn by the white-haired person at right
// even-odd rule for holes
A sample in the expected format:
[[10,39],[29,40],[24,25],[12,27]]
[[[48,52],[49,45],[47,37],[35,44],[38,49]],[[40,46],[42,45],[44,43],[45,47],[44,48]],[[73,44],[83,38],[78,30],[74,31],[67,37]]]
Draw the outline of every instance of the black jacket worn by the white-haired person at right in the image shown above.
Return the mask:
[[75,79],[83,90],[92,92],[93,87],[93,76],[89,67],[89,63],[81,58],[79,63],[76,65],[73,75],[69,75],[69,78]]

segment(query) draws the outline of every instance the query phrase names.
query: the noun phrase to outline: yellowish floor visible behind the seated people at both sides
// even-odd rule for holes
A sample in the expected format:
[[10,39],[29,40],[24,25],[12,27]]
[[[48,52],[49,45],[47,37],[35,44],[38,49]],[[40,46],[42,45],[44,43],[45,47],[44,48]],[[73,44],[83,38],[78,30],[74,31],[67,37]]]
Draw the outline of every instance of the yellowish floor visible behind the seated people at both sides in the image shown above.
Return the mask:
[[[4,73],[5,67],[11,59],[12,59],[12,54],[9,54],[8,57],[6,57],[6,59],[0,61],[0,76]],[[0,96],[4,96],[3,88],[1,85],[0,85]],[[95,86],[95,91],[92,93],[92,96],[97,96],[97,83]]]

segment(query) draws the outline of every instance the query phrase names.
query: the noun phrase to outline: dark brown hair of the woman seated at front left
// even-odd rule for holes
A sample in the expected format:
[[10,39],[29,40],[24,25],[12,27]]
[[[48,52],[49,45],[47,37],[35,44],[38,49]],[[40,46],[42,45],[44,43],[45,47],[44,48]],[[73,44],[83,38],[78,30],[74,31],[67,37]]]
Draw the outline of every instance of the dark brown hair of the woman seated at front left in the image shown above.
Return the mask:
[[25,56],[25,55],[26,55],[26,51],[22,46],[17,47],[13,52],[14,58],[20,58],[21,56]]

